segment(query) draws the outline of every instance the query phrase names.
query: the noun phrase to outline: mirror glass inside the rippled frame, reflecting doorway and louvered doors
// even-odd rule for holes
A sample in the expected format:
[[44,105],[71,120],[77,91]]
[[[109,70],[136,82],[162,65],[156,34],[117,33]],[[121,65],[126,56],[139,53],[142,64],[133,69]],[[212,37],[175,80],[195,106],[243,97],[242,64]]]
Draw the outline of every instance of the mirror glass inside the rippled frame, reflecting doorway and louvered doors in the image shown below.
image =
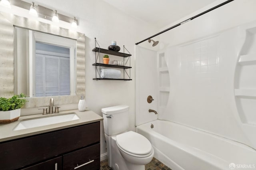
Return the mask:
[[14,26],[14,93],[76,95],[76,40]]

